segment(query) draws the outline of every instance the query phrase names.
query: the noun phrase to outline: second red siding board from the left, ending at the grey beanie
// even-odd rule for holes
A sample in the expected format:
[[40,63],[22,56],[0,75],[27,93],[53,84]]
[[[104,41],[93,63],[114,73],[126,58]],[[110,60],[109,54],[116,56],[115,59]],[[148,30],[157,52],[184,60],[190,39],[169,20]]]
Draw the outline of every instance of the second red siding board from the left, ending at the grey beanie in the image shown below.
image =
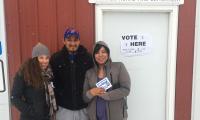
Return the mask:
[[[39,41],[37,0],[19,0],[20,53],[22,61],[31,56],[31,50]],[[9,33],[8,33],[9,34]]]

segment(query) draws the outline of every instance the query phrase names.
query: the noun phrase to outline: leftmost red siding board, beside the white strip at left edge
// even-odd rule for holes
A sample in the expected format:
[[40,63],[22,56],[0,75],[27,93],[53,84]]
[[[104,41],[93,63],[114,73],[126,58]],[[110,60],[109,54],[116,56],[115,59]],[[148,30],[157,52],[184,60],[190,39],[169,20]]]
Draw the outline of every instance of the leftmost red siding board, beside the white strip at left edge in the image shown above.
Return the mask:
[[[6,16],[6,32],[7,34],[7,47],[8,47],[8,59],[9,59],[9,78],[10,86],[13,84],[13,77],[15,71],[18,69],[21,63],[20,48],[20,32],[19,32],[19,11],[18,1],[16,0],[5,0]],[[10,9],[12,8],[12,9]],[[19,120],[19,114],[17,110],[12,107],[12,116]],[[13,118],[14,118],[13,117]]]

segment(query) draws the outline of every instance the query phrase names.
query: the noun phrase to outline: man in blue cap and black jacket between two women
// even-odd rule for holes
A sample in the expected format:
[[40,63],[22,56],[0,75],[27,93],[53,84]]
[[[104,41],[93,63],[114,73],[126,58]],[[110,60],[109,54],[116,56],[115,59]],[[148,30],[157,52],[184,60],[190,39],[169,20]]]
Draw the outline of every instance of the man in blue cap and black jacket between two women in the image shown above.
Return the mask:
[[63,48],[54,53],[50,64],[55,76],[54,86],[59,110],[57,120],[88,120],[84,103],[83,84],[86,71],[93,60],[80,45],[79,32],[68,28],[64,33]]

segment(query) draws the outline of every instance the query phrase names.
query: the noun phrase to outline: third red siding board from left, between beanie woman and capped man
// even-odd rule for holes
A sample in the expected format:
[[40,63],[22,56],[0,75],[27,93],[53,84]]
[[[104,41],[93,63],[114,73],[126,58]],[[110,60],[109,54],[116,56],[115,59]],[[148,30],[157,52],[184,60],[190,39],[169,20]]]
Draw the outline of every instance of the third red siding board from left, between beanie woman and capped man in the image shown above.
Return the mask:
[[38,40],[52,52],[58,48],[56,0],[38,0]]

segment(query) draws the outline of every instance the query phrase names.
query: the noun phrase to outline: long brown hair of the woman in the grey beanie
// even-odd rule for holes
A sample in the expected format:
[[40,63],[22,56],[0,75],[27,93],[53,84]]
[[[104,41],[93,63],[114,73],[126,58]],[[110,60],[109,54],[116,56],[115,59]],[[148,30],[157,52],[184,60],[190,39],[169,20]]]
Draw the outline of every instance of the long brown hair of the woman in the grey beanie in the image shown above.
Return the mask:
[[28,59],[22,66],[25,82],[34,88],[43,88],[43,77],[38,58]]

